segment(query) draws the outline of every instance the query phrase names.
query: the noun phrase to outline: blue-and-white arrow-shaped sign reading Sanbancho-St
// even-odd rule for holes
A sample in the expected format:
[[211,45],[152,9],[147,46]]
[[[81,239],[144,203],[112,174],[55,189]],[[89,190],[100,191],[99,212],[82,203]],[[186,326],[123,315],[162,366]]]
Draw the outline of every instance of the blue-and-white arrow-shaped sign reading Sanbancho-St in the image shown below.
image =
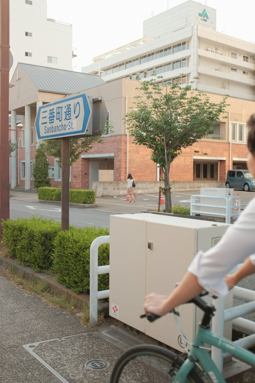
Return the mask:
[[85,134],[91,108],[85,94],[39,106],[34,123],[39,140]]

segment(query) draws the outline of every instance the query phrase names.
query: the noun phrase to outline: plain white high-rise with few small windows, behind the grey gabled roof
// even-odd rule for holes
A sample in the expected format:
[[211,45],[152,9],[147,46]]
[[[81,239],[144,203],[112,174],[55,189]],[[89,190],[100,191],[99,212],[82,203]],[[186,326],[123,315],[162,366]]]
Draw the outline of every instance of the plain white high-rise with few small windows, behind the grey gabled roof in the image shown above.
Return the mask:
[[72,70],[72,26],[47,19],[47,0],[10,0],[10,51],[18,62]]

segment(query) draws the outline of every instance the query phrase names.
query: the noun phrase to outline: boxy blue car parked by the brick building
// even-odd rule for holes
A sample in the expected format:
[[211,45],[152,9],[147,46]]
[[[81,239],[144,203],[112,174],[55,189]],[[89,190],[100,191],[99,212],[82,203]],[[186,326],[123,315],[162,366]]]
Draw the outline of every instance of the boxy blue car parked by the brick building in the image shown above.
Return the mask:
[[225,186],[250,191],[255,190],[255,180],[249,170],[228,170]]

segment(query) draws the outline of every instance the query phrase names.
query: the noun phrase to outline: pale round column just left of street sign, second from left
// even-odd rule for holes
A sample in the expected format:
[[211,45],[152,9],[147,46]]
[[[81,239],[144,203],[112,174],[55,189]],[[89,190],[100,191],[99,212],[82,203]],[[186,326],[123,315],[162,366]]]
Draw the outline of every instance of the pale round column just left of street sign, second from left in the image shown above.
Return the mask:
[[25,189],[31,189],[31,106],[25,105]]

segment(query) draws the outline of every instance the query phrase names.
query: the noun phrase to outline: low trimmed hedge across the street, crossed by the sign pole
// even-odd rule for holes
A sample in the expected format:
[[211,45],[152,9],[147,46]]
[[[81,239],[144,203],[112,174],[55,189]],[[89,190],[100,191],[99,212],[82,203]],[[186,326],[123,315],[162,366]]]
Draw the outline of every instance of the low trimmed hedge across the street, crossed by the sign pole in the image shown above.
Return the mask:
[[[61,201],[61,188],[42,187],[38,188],[39,200]],[[95,203],[94,190],[70,189],[69,202],[73,203]]]

